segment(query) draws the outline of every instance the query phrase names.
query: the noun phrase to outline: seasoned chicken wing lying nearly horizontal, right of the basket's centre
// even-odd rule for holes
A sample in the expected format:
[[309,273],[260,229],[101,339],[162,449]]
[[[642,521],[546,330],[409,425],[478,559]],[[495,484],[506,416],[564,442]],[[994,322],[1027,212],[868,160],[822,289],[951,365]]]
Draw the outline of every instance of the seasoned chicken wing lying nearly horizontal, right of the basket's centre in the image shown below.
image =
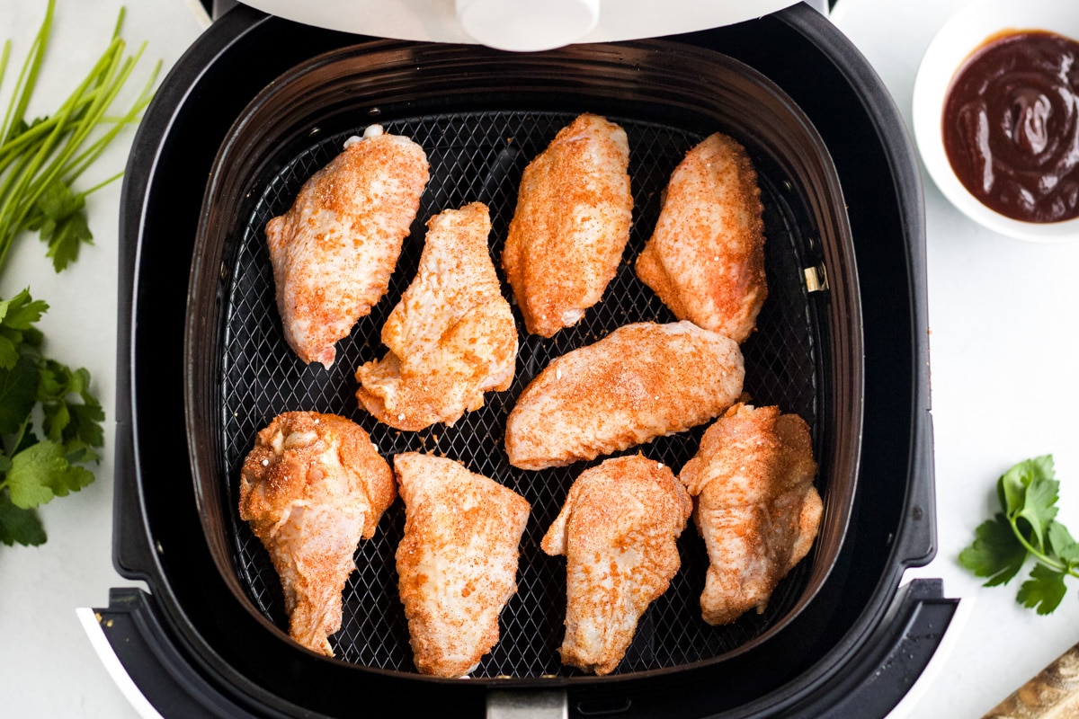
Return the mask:
[[691,322],[638,322],[555,359],[506,420],[509,462],[559,467],[719,416],[741,393],[737,343]]

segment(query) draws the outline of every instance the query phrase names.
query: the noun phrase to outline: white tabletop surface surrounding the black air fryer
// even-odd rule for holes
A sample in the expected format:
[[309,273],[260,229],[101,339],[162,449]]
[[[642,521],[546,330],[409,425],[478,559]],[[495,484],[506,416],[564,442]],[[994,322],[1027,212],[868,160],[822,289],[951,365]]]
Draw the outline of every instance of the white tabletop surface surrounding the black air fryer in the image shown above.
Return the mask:
[[[1022,1],[1022,0],[1016,0]],[[1070,3],[1074,0],[1061,0]],[[839,0],[833,20],[861,49],[910,123],[918,60],[935,29],[964,0]],[[132,85],[161,58],[167,68],[199,36],[183,0],[126,0],[123,37],[147,41]],[[52,112],[97,58],[119,0],[58,0],[52,50],[30,115]],[[0,107],[14,85],[44,12],[44,0],[0,2],[0,40],[14,39]],[[781,52],[781,49],[777,49]],[[83,181],[122,169],[132,133]],[[1074,245],[1021,243],[981,230],[952,208],[928,178],[929,314],[939,514],[937,559],[911,573],[944,579],[947,596],[971,597],[969,618],[919,682],[905,716],[981,717],[1014,688],[1079,641],[1079,582],[1052,616],[1038,617],[1011,586],[983,589],[956,555],[996,510],[994,482],[1015,461],[1052,453],[1062,481],[1061,517],[1079,530],[1079,238]],[[47,354],[86,367],[107,409],[106,458],[98,480],[41,510],[49,541],[0,545],[0,715],[108,717],[137,714],[113,683],[76,618],[106,606],[112,568],[112,457],[115,398],[117,217],[120,184],[92,195],[96,246],[52,272],[44,247],[24,237],[0,282],[0,296],[29,286],[51,309],[41,322]],[[871,281],[871,278],[863,278]]]

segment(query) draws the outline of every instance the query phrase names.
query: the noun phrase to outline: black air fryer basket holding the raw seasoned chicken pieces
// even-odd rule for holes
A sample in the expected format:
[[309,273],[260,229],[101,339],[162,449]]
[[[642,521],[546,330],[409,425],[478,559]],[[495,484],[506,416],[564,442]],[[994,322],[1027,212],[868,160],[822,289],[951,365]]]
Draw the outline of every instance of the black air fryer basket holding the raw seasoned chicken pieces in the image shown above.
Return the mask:
[[[603,301],[550,340],[519,326],[514,385],[453,427],[380,425],[357,406],[352,374],[385,351],[379,331],[414,275],[426,219],[486,203],[497,265],[524,165],[585,111],[618,122],[630,142],[634,224]],[[432,179],[387,296],[327,371],[282,338],[263,229],[372,123],[419,142]],[[766,611],[724,627],[700,620],[708,558],[691,525],[670,590],[615,674],[598,678],[558,660],[564,559],[538,549],[589,464],[513,468],[505,417],[554,357],[627,322],[673,319],[631,263],[671,169],[716,130],[747,147],[765,206],[769,296],[743,345],[745,389],[809,423],[825,512]],[[358,706],[495,716],[520,703],[575,716],[872,717],[934,650],[954,603],[939,582],[899,586],[904,568],[933,553],[920,186],[879,81],[815,11],[508,54],[360,38],[238,6],[159,91],[123,202],[131,281],[121,288],[114,553],[149,592],[118,590],[100,611],[166,716],[344,717]],[[256,433],[289,410],[350,416],[387,458],[445,454],[532,503],[518,593],[472,678],[412,667],[394,567],[399,501],[356,552],[336,658],[288,639],[279,582],[238,518],[236,493]],[[629,452],[677,472],[704,429]]]

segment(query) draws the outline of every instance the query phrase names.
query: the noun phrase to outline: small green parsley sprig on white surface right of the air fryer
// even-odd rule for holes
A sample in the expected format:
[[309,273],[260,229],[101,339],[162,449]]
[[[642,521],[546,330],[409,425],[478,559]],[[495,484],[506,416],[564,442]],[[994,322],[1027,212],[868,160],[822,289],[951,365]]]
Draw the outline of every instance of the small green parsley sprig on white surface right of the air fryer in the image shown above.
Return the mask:
[[1060,606],[1065,577],[1079,578],[1079,543],[1056,521],[1058,495],[1052,455],[1019,462],[997,481],[1001,511],[982,523],[973,543],[959,553],[964,567],[987,578],[985,586],[1007,584],[1033,557],[1016,602],[1039,614]]

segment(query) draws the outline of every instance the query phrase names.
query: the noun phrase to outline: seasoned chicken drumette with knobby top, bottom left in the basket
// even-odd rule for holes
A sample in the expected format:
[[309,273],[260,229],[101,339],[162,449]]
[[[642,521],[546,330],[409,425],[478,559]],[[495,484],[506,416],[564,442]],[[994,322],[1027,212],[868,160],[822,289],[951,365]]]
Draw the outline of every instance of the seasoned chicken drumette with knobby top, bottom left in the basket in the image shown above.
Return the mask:
[[344,417],[286,412],[259,432],[240,474],[240,516],[285,591],[289,636],[328,656],[360,539],[397,496],[367,432]]

